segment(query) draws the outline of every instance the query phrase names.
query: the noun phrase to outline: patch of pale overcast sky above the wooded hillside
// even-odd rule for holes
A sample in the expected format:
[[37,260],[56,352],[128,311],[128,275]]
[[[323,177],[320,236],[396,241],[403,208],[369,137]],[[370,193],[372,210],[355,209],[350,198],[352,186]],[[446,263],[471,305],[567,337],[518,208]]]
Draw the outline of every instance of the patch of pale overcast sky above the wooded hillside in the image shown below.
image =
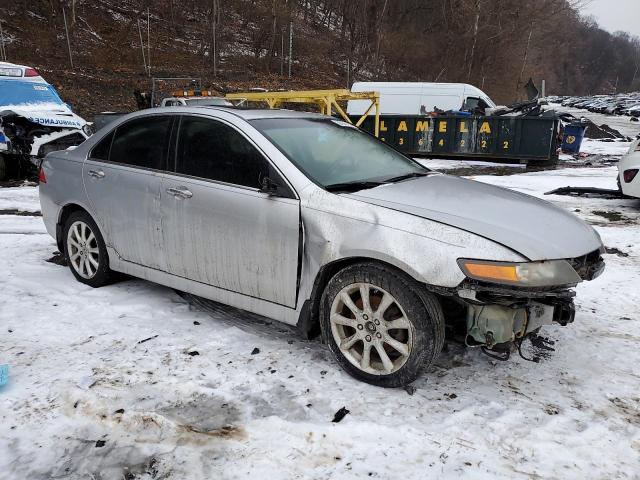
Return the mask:
[[585,0],[582,13],[592,15],[605,30],[640,37],[640,0]]

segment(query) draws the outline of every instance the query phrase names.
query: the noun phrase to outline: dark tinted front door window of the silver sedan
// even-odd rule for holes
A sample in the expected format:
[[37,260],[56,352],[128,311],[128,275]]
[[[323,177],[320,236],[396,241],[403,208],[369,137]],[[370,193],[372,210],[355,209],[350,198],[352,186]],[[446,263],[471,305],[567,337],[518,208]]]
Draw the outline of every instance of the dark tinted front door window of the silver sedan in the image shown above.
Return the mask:
[[176,172],[260,188],[269,163],[240,133],[216,120],[183,117]]

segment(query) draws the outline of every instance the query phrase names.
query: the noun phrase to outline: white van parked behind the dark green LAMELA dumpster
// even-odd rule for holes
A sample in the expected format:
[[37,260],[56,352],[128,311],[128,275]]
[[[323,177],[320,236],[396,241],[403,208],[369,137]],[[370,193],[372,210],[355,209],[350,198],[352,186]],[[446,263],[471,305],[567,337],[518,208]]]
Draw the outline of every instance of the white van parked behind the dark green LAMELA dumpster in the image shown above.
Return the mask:
[[[351,91],[379,92],[381,115],[423,115],[434,108],[446,111],[496,106],[486,93],[466,83],[356,82]],[[369,105],[368,100],[350,100],[347,113],[363,115]]]

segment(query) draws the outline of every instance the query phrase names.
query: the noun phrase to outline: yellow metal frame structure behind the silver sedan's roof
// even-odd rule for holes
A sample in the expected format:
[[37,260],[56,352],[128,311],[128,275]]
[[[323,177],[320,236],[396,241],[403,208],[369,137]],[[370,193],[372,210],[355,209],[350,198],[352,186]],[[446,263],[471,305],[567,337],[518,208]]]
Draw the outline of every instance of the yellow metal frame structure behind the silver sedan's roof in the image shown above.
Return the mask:
[[320,113],[331,115],[335,110],[345,121],[353,123],[338,102],[349,100],[369,100],[371,105],[364,112],[356,127],[362,125],[375,109],[374,134],[380,133],[380,94],[378,92],[352,92],[346,89],[337,90],[289,90],[287,92],[240,92],[228,93],[225,98],[229,100],[244,100],[247,102],[266,102],[269,108],[279,108],[283,103],[310,103],[320,108]]

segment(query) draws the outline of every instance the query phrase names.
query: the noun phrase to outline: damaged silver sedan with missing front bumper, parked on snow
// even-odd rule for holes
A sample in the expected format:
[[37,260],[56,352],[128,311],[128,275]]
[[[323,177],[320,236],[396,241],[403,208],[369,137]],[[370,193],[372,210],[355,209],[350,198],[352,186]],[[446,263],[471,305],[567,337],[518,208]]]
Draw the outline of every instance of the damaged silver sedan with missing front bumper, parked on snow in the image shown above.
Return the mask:
[[49,154],[40,201],[80,282],[123,272],[297,325],[385,387],[445,333],[505,358],[572,322],[573,287],[604,267],[572,214],[307,113],[136,112]]

